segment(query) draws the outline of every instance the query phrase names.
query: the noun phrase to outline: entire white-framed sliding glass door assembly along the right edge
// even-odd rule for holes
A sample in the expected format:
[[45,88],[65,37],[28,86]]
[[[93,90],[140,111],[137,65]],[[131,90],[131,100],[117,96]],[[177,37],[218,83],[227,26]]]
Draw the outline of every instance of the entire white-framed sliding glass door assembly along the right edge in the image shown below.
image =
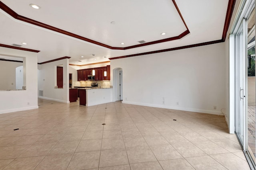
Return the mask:
[[234,131],[250,167],[255,169],[255,0],[242,0],[240,7],[230,35],[234,54],[230,59],[234,61],[234,75],[230,74],[234,76]]

